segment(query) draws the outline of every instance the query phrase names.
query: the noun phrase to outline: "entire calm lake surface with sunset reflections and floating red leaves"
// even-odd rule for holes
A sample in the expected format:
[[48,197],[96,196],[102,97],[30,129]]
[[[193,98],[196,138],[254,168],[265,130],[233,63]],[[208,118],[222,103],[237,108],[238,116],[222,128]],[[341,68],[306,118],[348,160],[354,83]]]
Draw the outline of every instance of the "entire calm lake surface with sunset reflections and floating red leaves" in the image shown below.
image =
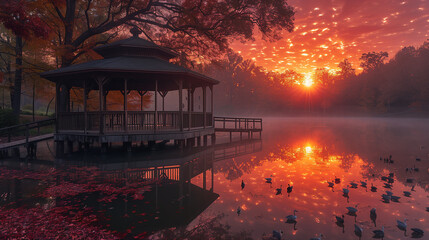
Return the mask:
[[[0,235],[19,236],[10,235],[23,231],[13,223],[36,227],[31,223],[39,221],[73,224],[64,234],[105,238],[269,239],[277,230],[282,239],[320,233],[323,239],[359,239],[357,224],[361,239],[383,226],[384,239],[425,239],[428,132],[427,119],[264,118],[262,140],[228,144],[229,136],[218,136],[209,148],[77,153],[54,162],[48,144],[40,146],[39,160],[1,162],[1,215],[19,220],[0,220]],[[386,191],[399,200],[383,200]],[[287,222],[294,210],[296,221]],[[344,215],[344,224],[335,215]],[[60,223],[51,219],[59,216]],[[407,231],[397,227],[396,220],[404,219]],[[413,235],[411,228],[425,234]]]

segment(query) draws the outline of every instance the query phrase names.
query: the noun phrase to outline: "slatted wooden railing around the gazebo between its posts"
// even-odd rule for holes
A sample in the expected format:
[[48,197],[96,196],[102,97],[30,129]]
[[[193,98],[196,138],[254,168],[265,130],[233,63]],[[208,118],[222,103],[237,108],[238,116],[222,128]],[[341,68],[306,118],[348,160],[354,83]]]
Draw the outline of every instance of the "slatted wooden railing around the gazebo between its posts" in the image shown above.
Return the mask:
[[[100,117],[102,114],[102,118]],[[125,124],[125,119],[127,123]],[[206,127],[213,126],[212,114],[206,113]],[[85,114],[83,112],[71,112],[58,114],[59,130],[85,130]],[[180,112],[160,111],[157,112],[157,122],[155,123],[154,111],[128,111],[125,118],[123,111],[105,111],[87,113],[87,131],[100,131],[100,121],[103,121],[103,132],[124,132],[124,131],[152,131],[152,130],[180,130]],[[200,112],[183,112],[183,129],[204,127],[204,114]]]

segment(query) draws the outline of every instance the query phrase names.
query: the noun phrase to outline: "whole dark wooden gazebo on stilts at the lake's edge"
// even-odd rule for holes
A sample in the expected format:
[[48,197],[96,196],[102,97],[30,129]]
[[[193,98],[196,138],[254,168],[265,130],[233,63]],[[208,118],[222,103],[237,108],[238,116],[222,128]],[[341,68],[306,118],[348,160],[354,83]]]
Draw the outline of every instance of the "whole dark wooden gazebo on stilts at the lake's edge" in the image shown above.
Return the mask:
[[[56,142],[57,156],[64,154],[64,143],[73,149],[99,143],[105,152],[109,143],[123,143],[128,151],[133,142],[174,140],[179,146],[194,145],[195,139],[207,144],[215,129],[213,121],[213,86],[219,81],[184,67],[170,59],[177,54],[152,42],[139,38],[132,29],[128,39],[94,48],[104,59],[75,64],[44,72],[42,77],[56,84]],[[202,89],[202,109],[194,109],[194,92]],[[76,111],[70,101],[71,90],[80,90],[82,109]],[[210,89],[210,97],[207,96]],[[184,99],[184,90],[186,95]],[[109,96],[120,92],[123,108],[107,108]],[[131,91],[140,96],[140,109],[128,110]],[[178,92],[175,111],[164,111],[164,98]],[[144,96],[152,93],[154,109],[144,109]],[[92,104],[88,104],[88,96]],[[162,98],[160,108],[159,98]],[[210,111],[207,101],[210,100]],[[185,111],[185,103],[187,104]]]

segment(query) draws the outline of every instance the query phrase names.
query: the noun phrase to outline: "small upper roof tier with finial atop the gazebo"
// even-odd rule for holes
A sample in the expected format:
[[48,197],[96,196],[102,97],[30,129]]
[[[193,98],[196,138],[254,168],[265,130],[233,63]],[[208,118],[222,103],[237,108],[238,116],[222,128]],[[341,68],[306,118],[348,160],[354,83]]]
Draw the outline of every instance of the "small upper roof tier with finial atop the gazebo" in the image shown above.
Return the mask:
[[177,57],[175,52],[140,38],[141,31],[138,28],[132,28],[130,32],[132,37],[96,47],[94,51],[104,58],[155,57],[169,61],[171,58]]

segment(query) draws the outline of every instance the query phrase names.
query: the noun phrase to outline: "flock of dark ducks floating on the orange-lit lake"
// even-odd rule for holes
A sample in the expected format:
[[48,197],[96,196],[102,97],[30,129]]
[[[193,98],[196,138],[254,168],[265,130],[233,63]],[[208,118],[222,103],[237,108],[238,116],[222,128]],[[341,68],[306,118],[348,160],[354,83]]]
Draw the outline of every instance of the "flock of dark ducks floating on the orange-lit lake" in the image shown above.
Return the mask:
[[[382,160],[382,158],[380,158],[380,160]],[[416,159],[416,160],[419,161],[420,159]],[[393,163],[392,156],[389,156],[389,158],[385,158],[384,162]],[[418,171],[418,168],[416,168],[414,166],[413,168],[407,168],[406,171],[407,172],[408,171]],[[392,184],[395,181],[394,180],[394,173],[389,173],[388,176],[382,176],[381,180],[385,181],[384,186],[383,186],[384,188],[386,188],[386,189],[392,189]],[[265,182],[271,184],[272,183],[272,176],[270,176],[269,178],[265,178]],[[333,191],[333,188],[334,188],[335,184],[339,184],[340,182],[341,182],[341,179],[337,178],[336,176],[335,176],[334,181],[327,181],[328,187],[332,188],[332,191]],[[407,182],[410,182],[410,181],[407,179]],[[246,186],[246,184],[244,183],[243,180],[241,180],[241,189],[244,189],[245,186]],[[343,196],[347,198],[347,202],[349,200],[349,192],[350,192],[349,186],[350,186],[350,188],[358,188],[358,183],[350,182],[347,185],[346,188],[343,188]],[[366,180],[365,181],[360,181],[360,186],[367,189],[367,187],[368,187],[367,181]],[[415,191],[414,187],[415,187],[415,185],[412,186],[411,191]],[[287,187],[287,193],[288,193],[288,195],[292,192],[292,190],[293,190],[293,186],[290,186],[290,184],[288,184],[288,187]],[[375,187],[371,183],[371,189],[370,190],[372,192],[377,192],[377,187]],[[280,188],[276,189],[276,195],[279,195],[279,194],[282,194],[282,185],[280,185]],[[411,197],[411,192],[410,191],[403,191],[403,194],[404,194],[405,197]],[[386,191],[386,194],[382,194],[381,198],[382,198],[382,200],[383,200],[384,203],[390,203],[390,201],[398,202],[401,197],[393,195],[393,192],[391,192],[391,191]],[[363,234],[363,229],[362,229],[361,226],[359,226],[358,224],[356,224],[356,217],[357,217],[357,212],[358,212],[357,207],[358,207],[358,205],[359,204],[357,204],[355,207],[346,207],[346,209],[348,210],[347,215],[355,217],[355,224],[354,224],[354,228],[355,229],[354,229],[354,233],[355,233],[356,236],[359,237],[359,239],[361,239],[362,234]],[[240,207],[238,207],[237,208],[237,214],[240,215],[241,211],[242,211],[242,209]],[[429,207],[426,208],[426,211],[429,212]],[[286,216],[286,223],[293,223],[294,224],[294,229],[295,229],[295,225],[297,223],[297,216],[296,216],[297,212],[298,212],[298,210],[294,210],[292,215]],[[344,223],[345,223],[344,215],[342,215],[342,216],[335,216],[335,218],[336,218],[336,224],[339,227],[343,228],[343,233],[344,233]],[[376,226],[376,219],[377,219],[376,208],[372,208],[370,210],[370,219],[374,223],[374,225]],[[406,233],[407,233],[407,219],[404,219],[404,221],[396,220],[396,226],[400,230],[404,231],[404,236],[406,236]],[[411,228],[411,231],[412,231],[412,234],[411,234],[412,238],[422,238],[424,236],[424,231],[422,229],[420,229],[420,228]],[[283,231],[273,230],[273,235],[272,235],[271,239],[281,240],[282,239],[282,235],[283,235]],[[324,236],[321,233],[321,234],[319,234],[318,237],[311,238],[310,240],[321,240],[321,239],[323,239],[323,237]],[[382,226],[381,229],[373,230],[373,238],[384,239],[384,226]]]

